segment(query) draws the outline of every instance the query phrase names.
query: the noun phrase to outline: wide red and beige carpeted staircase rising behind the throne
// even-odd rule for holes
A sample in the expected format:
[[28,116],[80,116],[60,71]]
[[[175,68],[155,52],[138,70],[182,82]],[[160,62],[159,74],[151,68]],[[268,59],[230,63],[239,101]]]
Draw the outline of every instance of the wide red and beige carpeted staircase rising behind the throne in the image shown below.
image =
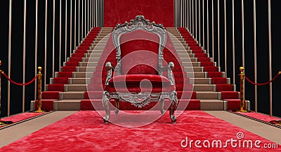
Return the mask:
[[[178,68],[184,70],[183,75],[174,70],[176,88],[180,103],[189,102],[186,110],[228,110],[239,109],[239,92],[230,84],[224,72],[209,58],[209,54],[183,27],[167,27],[171,45],[174,47]],[[115,48],[112,43],[111,27],[94,27],[86,38],[77,46],[67,62],[55,72],[50,84],[42,92],[43,110],[94,110],[91,102],[101,104],[103,86],[105,84],[104,64],[107,61],[116,65]],[[112,51],[113,50],[113,51]],[[164,59],[169,61],[171,55]],[[177,68],[176,68],[177,69]],[[181,98],[181,86],[192,86],[191,98]],[[188,84],[187,84],[188,83]],[[31,110],[36,109],[37,101],[32,101]],[[113,103],[114,104],[114,103]],[[121,110],[138,110],[128,103],[120,103]],[[146,110],[149,107],[141,110]],[[96,107],[95,107],[96,108]]]

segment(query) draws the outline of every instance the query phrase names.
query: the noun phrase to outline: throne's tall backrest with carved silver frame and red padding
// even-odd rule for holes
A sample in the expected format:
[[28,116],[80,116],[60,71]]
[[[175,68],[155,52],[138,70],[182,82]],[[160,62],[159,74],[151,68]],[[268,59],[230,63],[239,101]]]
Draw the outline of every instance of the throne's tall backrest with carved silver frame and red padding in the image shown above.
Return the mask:
[[117,75],[162,75],[166,30],[137,15],[130,23],[117,24],[112,40],[117,50]]

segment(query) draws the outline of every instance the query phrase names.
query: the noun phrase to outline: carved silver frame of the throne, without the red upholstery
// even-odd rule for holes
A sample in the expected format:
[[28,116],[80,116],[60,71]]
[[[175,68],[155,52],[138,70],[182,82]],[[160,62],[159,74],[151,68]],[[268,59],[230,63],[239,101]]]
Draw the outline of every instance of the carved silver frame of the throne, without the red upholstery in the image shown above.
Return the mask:
[[[174,75],[172,70],[174,69],[174,63],[170,62],[166,67],[162,66],[163,61],[163,49],[166,45],[166,30],[163,25],[155,24],[154,22],[150,23],[149,20],[145,20],[143,15],[137,15],[134,20],[131,20],[130,23],[125,22],[123,25],[117,24],[115,29],[112,32],[112,40],[115,44],[115,48],[117,49],[116,58],[117,58],[117,66],[113,68],[110,62],[107,62],[105,68],[107,70],[107,78],[105,80],[105,85],[109,85],[109,80],[112,79],[112,70],[115,70],[117,75],[121,75],[121,48],[120,48],[120,37],[122,34],[127,32],[132,32],[134,30],[145,30],[147,32],[152,32],[159,36],[159,55],[158,55],[158,72],[159,75],[163,75],[163,71],[168,72],[168,80],[171,85],[175,85]],[[143,106],[148,105],[150,102],[160,101],[160,111],[161,114],[164,114],[164,99],[169,99],[171,102],[169,114],[171,118],[171,122],[176,122],[176,115],[174,115],[174,111],[178,106],[178,98],[176,90],[171,92],[159,92],[159,93],[122,93],[122,92],[110,92],[103,91],[103,107],[105,108],[105,117],[103,118],[104,122],[107,123],[110,118],[110,99],[115,99],[115,114],[117,115],[119,112],[119,101],[129,102],[133,106],[141,108]]]

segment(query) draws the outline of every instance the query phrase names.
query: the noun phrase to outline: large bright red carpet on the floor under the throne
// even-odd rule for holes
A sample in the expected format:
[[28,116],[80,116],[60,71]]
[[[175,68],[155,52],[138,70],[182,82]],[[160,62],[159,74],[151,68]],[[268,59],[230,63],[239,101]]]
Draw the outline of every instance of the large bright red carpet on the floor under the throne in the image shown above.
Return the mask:
[[[244,138],[238,139],[238,132],[242,132]],[[189,142],[193,140],[191,148],[190,145],[181,146],[186,137]],[[233,142],[236,148],[230,142],[226,148],[196,148],[194,142],[200,140],[203,146],[204,140],[210,143],[221,140],[226,146],[226,141],[231,139],[237,140]],[[268,151],[265,148],[242,148],[245,140],[253,143],[260,140],[261,147],[273,143],[197,110],[186,110],[174,125],[170,124],[169,113],[165,113],[150,125],[133,128],[104,125],[96,111],[79,111],[0,148],[0,151]],[[278,146],[279,149],[270,151],[280,151],[281,146]]]

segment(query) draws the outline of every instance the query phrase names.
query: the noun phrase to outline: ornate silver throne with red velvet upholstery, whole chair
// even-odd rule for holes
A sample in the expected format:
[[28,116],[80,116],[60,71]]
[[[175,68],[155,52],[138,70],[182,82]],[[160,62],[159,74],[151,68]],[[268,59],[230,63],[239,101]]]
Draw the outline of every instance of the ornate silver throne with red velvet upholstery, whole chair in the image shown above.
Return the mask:
[[[110,118],[110,99],[115,99],[119,112],[119,101],[129,102],[141,108],[150,102],[160,102],[164,114],[164,99],[171,101],[170,118],[176,122],[174,111],[178,105],[174,84],[174,63],[163,61],[163,49],[167,34],[160,24],[150,23],[143,15],[137,15],[130,23],[117,24],[112,32],[116,48],[117,65],[107,62],[107,78],[103,91],[104,122]],[[114,71],[114,73],[113,73]],[[167,71],[167,77],[163,76]]]

